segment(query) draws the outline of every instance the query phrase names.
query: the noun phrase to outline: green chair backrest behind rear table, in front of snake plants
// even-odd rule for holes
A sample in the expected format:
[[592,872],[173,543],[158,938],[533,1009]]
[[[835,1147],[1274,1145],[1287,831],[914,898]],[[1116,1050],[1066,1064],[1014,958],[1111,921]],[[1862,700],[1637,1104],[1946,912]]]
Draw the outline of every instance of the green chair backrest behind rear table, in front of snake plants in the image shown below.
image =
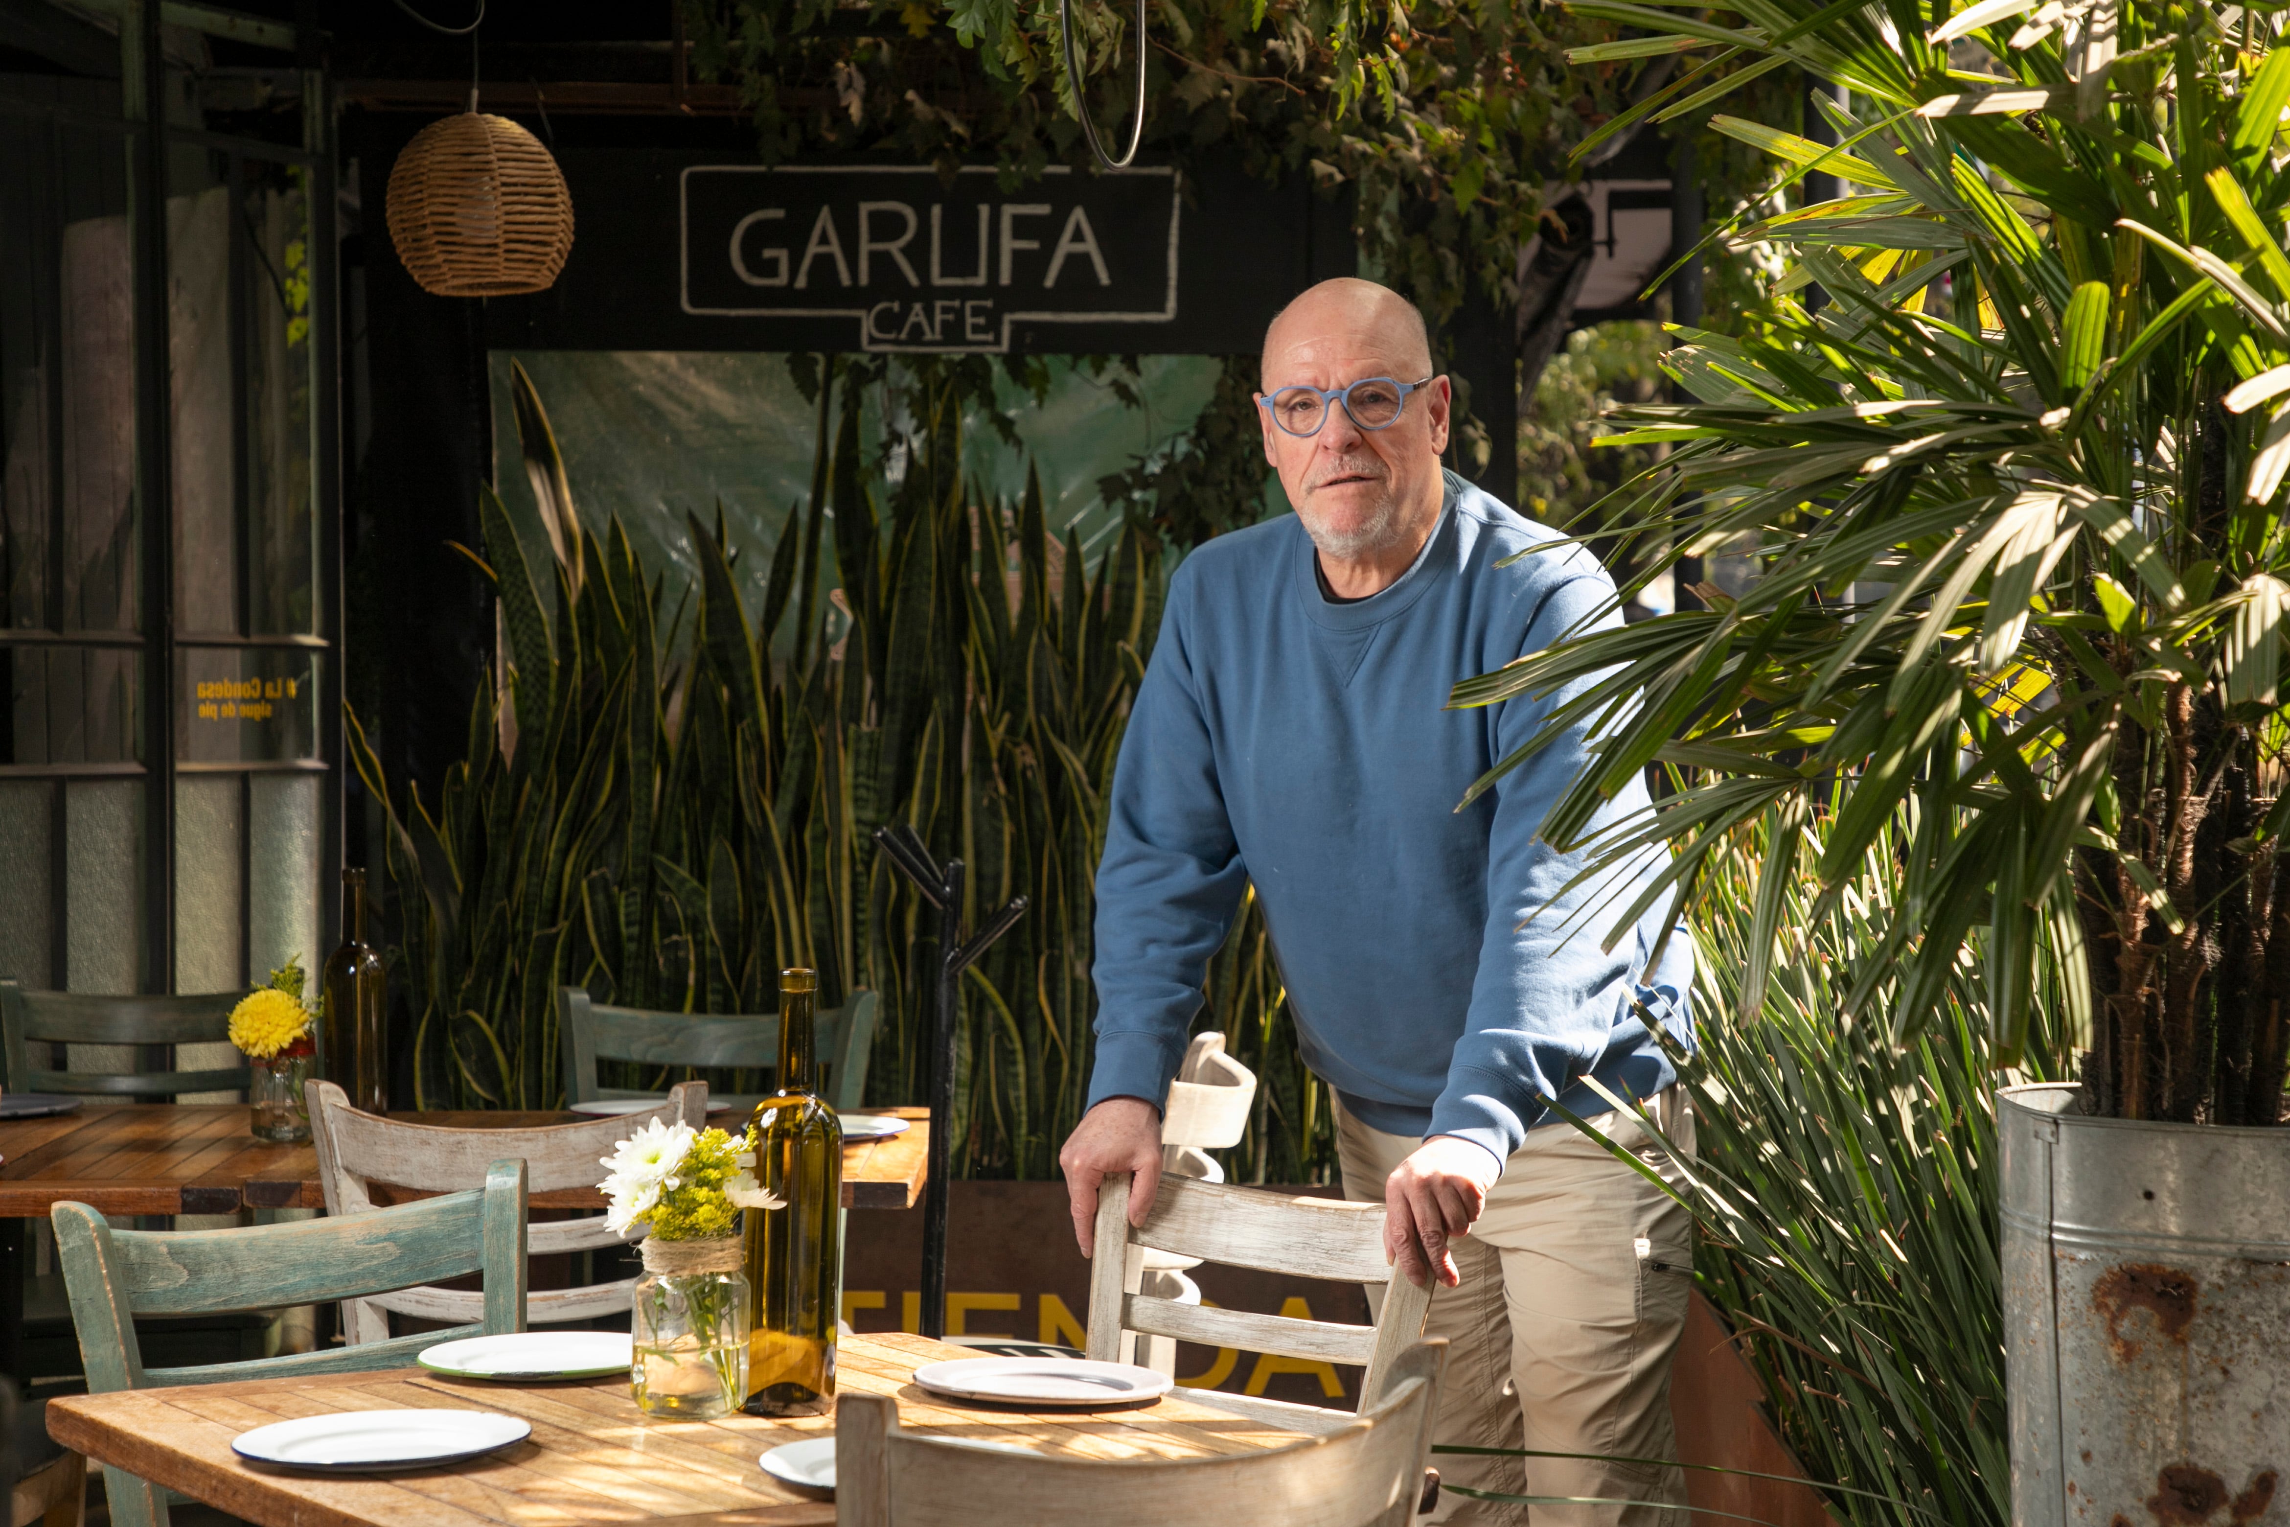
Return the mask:
[[[852,991],[850,1000],[818,1014],[818,1055],[824,1099],[836,1113],[852,1113],[866,1097],[866,1067],[875,1049],[875,994]],[[600,1087],[598,1060],[634,1060],[655,1067],[779,1069],[779,1014],[657,1012],[607,1007],[579,987],[556,989],[556,1028],[563,1037],[566,1094],[575,1103],[607,1097],[653,1097],[627,1087]]]

